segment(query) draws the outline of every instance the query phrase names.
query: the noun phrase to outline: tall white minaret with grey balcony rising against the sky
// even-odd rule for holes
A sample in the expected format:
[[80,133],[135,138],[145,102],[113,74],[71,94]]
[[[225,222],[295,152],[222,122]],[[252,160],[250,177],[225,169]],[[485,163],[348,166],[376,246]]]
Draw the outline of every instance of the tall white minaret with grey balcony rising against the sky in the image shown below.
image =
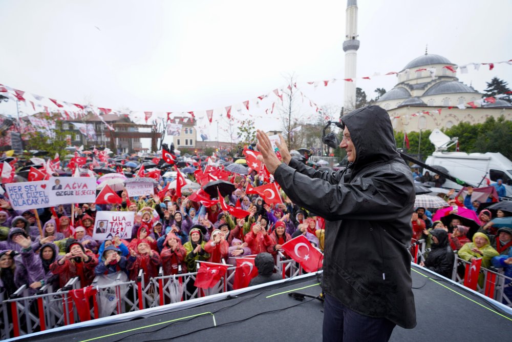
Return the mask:
[[344,82],[345,111],[355,109],[355,88],[356,88],[356,62],[357,49],[359,49],[359,41],[357,40],[357,0],[347,0],[347,18],[346,18],[346,35],[343,42],[343,51],[345,51],[345,77],[351,78],[353,82]]

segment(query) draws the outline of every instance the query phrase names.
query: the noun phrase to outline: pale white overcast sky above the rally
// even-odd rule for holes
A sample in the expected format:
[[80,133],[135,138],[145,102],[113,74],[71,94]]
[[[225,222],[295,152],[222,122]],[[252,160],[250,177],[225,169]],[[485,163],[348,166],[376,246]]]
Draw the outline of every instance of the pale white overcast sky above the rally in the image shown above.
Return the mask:
[[[139,113],[179,113],[240,105],[282,87],[284,77],[294,74],[319,106],[343,105],[344,81],[316,89],[306,83],[345,78],[343,0],[1,5],[0,84],[29,93]],[[369,97],[377,87],[390,90],[396,77],[360,77],[400,71],[427,44],[429,53],[457,65],[512,58],[509,0],[359,0],[358,8],[356,82]],[[512,65],[470,67],[458,76],[478,91],[495,76],[511,86]],[[258,128],[281,129],[276,111],[268,115],[265,106],[252,107]],[[309,106],[302,111],[313,113]],[[12,101],[0,105],[0,113],[15,112]],[[140,122],[141,115],[135,119]],[[206,133],[216,140],[216,124]]]

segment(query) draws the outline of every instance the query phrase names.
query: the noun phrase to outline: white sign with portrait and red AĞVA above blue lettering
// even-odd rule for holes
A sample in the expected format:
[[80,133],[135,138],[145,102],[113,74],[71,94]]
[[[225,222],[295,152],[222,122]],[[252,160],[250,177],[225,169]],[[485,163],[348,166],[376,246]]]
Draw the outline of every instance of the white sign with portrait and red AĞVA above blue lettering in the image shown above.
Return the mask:
[[50,177],[48,193],[52,206],[70,203],[94,203],[96,200],[96,178]]

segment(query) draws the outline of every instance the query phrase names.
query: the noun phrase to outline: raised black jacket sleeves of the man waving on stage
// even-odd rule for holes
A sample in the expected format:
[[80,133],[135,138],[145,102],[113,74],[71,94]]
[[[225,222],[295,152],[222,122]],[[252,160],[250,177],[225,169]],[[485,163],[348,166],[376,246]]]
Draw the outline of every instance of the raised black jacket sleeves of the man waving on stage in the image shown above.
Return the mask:
[[397,169],[401,163],[381,163],[343,183],[340,172],[315,171],[292,158],[275,170],[274,178],[294,203],[327,220],[392,221],[414,201],[411,175]]

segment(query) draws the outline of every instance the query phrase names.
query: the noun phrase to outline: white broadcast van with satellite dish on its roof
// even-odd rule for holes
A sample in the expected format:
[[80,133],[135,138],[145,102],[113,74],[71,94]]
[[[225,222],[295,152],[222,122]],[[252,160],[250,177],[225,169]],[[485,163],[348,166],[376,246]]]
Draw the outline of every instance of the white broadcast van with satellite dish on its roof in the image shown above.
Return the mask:
[[[503,179],[507,196],[512,197],[512,162],[501,153],[465,153],[465,152],[443,152],[447,147],[453,145],[457,138],[450,139],[439,130],[434,130],[429,137],[436,146],[436,152],[426,158],[425,164],[430,166],[442,166],[448,170],[451,176],[459,178],[474,186],[484,187],[487,180],[490,184]],[[487,179],[485,179],[487,178]],[[446,180],[444,188],[461,189],[462,186]]]

